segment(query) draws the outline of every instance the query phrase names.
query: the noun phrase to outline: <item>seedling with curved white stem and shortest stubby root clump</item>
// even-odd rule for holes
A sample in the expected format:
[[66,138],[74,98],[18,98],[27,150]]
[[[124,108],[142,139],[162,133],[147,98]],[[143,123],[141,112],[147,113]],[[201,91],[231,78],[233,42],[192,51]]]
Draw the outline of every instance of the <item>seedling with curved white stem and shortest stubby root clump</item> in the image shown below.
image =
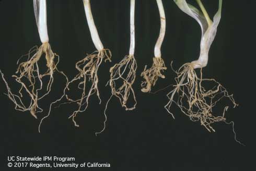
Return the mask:
[[141,74],[141,76],[145,79],[145,81],[143,81],[141,84],[142,92],[144,93],[151,91],[152,87],[155,86],[158,77],[165,78],[161,72],[167,69],[164,60],[161,58],[161,45],[164,41],[166,31],[165,9],[161,0],[156,0],[156,2],[160,13],[160,34],[155,45],[155,57],[153,57],[153,65],[148,69],[147,66],[145,66],[144,71]]

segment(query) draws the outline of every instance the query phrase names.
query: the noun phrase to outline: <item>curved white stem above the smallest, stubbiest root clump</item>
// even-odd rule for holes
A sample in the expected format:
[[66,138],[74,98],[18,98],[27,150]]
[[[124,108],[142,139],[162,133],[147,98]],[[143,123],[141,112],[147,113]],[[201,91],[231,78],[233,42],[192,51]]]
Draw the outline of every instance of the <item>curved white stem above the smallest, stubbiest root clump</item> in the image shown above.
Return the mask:
[[162,45],[162,41],[164,41],[164,38],[165,38],[166,18],[165,18],[165,9],[164,9],[164,6],[162,5],[162,0],[156,0],[156,2],[157,2],[157,6],[159,9],[159,13],[160,13],[161,26],[160,26],[160,34],[159,34],[158,40],[155,45],[155,57],[160,58],[161,57],[161,45]]

